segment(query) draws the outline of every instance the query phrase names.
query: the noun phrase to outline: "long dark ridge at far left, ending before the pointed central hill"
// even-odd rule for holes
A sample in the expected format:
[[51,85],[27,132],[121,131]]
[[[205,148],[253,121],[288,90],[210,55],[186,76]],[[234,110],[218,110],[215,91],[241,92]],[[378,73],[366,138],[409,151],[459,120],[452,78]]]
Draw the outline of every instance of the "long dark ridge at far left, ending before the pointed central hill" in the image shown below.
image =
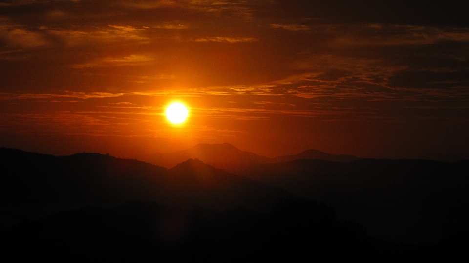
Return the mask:
[[[2,204],[118,204],[153,197],[167,169],[98,153],[55,157],[1,149]],[[11,154],[14,152],[15,154]]]

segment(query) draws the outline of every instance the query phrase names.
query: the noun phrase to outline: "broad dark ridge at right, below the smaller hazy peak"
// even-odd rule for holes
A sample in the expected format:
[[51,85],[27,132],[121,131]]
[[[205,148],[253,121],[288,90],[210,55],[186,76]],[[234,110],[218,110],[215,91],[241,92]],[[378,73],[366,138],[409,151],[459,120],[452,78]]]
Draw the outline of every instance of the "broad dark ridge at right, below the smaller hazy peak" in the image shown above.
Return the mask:
[[332,204],[389,241],[426,243],[469,229],[469,161],[295,160],[232,171]]

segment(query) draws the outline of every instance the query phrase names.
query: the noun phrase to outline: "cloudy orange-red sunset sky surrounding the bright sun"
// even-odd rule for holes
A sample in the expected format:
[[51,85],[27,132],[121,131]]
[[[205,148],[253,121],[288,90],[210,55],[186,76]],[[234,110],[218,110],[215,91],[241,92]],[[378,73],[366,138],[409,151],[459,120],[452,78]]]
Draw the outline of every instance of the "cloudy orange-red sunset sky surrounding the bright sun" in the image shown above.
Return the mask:
[[[0,146],[468,153],[460,2],[0,0]],[[189,108],[177,126],[175,101]]]

